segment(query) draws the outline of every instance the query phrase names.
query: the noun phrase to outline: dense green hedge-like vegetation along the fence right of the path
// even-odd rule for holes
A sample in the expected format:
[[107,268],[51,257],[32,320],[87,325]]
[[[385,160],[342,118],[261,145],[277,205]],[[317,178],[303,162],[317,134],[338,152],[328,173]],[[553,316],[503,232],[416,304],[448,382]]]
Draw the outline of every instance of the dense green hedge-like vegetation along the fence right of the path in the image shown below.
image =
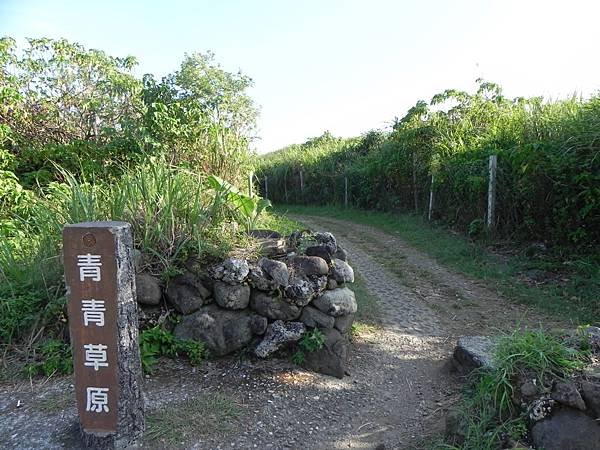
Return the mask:
[[[488,159],[498,155],[495,233],[595,253],[600,244],[600,97],[507,98],[479,81],[419,101],[390,132],[329,133],[261,158],[279,203],[414,211],[472,236],[485,231]],[[432,186],[433,179],[433,186]]]

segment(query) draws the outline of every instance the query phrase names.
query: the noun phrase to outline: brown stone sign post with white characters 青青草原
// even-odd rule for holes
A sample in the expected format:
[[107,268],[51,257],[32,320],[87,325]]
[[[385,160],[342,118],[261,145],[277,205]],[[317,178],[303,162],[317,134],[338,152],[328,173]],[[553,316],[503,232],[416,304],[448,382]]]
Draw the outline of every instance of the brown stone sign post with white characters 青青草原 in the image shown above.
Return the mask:
[[69,329],[83,443],[124,448],[144,431],[131,226],[63,230]]

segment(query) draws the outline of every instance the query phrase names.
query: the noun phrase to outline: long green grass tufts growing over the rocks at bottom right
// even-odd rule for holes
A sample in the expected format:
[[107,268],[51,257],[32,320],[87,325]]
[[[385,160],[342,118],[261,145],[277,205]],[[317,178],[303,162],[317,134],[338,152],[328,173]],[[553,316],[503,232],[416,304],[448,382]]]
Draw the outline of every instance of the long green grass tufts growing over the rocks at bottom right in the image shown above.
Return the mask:
[[[582,335],[583,336],[583,335]],[[435,449],[492,450],[502,436],[520,440],[527,430],[525,412],[512,402],[515,382],[535,379],[541,389],[584,367],[589,341],[568,339],[541,330],[515,331],[502,336],[494,348],[493,369],[474,373],[456,411],[464,442],[435,443]],[[455,445],[459,446],[455,446]]]

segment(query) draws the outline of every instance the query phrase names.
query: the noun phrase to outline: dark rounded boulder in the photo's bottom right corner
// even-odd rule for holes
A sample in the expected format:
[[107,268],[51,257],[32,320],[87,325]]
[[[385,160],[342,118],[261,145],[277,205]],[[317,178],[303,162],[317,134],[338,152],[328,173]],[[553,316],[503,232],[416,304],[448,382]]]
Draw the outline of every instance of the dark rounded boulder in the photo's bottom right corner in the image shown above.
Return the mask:
[[590,450],[600,446],[600,426],[575,409],[561,409],[531,428],[535,448],[545,450]]

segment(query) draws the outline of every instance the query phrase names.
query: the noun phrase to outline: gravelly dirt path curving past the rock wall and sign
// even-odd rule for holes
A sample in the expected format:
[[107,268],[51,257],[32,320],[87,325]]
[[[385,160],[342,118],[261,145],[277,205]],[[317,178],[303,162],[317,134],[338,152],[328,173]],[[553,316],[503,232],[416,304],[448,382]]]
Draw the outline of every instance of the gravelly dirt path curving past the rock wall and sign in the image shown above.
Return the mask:
[[[145,380],[151,413],[220,392],[242,414],[233,423],[174,442],[145,442],[143,448],[418,447],[442,429],[456,400],[448,357],[458,336],[554,323],[439,266],[396,236],[339,220],[297,219],[336,235],[379,303],[382,325],[355,340],[350,376],[338,380],[287,361],[239,356],[197,369],[165,363]],[[71,382],[0,387],[0,448],[77,448]]]

